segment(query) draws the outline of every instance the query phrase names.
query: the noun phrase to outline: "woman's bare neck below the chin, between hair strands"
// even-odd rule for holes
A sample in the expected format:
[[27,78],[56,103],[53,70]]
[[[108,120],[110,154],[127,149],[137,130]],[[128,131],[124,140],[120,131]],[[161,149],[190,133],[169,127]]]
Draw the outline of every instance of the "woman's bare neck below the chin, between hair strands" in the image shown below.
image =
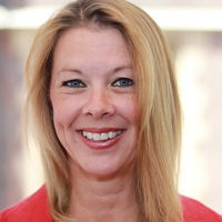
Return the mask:
[[133,195],[133,165],[117,176],[101,179],[78,173],[72,176],[71,214],[88,222],[135,222],[138,205]]

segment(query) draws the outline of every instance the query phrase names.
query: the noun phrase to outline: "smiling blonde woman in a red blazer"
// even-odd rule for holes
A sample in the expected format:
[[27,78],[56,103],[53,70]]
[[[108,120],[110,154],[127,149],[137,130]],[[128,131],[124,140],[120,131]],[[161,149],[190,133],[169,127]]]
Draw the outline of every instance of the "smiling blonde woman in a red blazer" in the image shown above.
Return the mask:
[[178,194],[176,80],[165,39],[141,9],[69,3],[39,30],[26,80],[26,129],[46,185],[1,221],[222,221]]

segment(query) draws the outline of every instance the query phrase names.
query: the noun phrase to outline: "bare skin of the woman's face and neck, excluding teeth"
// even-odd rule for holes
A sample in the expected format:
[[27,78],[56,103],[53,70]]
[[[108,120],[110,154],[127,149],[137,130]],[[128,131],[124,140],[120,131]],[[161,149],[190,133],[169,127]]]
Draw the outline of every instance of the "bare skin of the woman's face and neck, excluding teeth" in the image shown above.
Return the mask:
[[[90,222],[137,221],[134,82],[121,33],[112,28],[64,32],[56,46],[50,98],[72,173],[71,214]],[[121,134],[92,141],[83,131]]]

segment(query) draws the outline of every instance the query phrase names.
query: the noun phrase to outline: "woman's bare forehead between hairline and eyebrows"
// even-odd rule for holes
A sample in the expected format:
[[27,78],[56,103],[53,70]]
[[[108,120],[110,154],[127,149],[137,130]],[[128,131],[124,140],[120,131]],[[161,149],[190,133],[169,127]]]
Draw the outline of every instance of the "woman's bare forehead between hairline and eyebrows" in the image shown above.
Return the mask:
[[[87,65],[131,63],[131,57],[122,33],[114,28],[73,28],[57,42],[53,68],[60,65]],[[122,65],[122,64],[120,64]]]

